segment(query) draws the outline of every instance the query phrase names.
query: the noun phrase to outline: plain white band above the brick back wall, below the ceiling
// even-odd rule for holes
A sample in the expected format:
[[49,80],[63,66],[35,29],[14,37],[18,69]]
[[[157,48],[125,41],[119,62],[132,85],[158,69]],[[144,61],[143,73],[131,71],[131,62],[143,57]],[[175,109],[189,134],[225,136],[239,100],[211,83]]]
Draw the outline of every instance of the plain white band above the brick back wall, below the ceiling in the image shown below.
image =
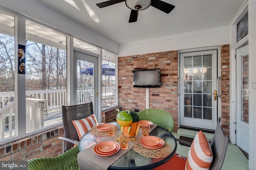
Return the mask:
[[230,44],[230,26],[119,45],[118,57]]

